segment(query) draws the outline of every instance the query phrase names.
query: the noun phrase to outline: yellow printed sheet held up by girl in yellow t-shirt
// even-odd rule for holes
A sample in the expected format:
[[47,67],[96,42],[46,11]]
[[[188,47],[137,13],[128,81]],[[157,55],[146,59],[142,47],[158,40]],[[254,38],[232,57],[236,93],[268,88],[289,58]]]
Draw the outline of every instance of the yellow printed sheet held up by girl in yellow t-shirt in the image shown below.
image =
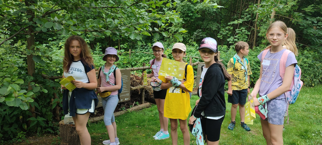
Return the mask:
[[165,77],[173,76],[181,81],[185,76],[185,63],[163,58],[158,74]]

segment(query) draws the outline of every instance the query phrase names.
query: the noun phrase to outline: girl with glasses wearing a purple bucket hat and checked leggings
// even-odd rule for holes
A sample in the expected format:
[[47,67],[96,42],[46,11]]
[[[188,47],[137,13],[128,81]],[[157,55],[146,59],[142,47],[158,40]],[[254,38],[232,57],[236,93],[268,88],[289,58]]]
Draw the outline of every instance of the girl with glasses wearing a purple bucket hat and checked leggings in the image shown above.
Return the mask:
[[114,62],[119,60],[117,50],[113,47],[106,48],[102,59],[106,63],[99,68],[96,91],[102,97],[104,124],[109,134],[109,140],[104,140],[103,144],[118,145],[120,142],[116,131],[114,111],[118,105],[118,90],[121,89],[122,75],[118,67],[114,65]]

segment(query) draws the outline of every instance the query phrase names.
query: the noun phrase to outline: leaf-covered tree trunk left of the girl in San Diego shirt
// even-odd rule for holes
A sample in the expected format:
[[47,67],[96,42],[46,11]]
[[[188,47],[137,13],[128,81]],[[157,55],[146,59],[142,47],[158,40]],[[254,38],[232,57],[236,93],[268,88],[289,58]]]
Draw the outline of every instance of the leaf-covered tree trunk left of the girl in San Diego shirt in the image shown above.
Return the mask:
[[[31,4],[29,1],[25,1],[26,6],[30,6]],[[28,22],[33,22],[34,18],[34,12],[30,9],[27,10],[27,13],[31,15],[30,18],[28,18]],[[32,33],[33,32],[33,26],[30,25],[30,27],[27,30],[27,33]],[[33,52],[35,49],[35,38],[34,34],[29,34],[30,37],[27,38],[27,49],[31,50]],[[30,55],[27,55],[27,69],[28,69],[28,75],[33,76],[33,73],[35,72],[35,62],[33,61],[33,54],[31,53]],[[32,87],[29,85],[28,90],[32,90]],[[33,100],[35,100],[34,97],[32,97]],[[33,105],[30,105],[29,108],[30,113],[32,114],[31,117],[36,117],[35,114],[35,107]],[[30,125],[31,121],[28,122],[28,125]]]

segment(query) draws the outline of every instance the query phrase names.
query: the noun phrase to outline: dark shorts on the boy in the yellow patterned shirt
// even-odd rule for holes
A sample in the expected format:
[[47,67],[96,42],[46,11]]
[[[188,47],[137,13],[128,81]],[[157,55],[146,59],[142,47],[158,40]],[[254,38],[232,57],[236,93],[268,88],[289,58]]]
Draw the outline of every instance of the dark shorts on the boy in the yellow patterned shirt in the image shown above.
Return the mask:
[[247,98],[247,89],[243,90],[232,90],[232,95],[228,95],[228,103],[232,104],[246,104],[246,98]]

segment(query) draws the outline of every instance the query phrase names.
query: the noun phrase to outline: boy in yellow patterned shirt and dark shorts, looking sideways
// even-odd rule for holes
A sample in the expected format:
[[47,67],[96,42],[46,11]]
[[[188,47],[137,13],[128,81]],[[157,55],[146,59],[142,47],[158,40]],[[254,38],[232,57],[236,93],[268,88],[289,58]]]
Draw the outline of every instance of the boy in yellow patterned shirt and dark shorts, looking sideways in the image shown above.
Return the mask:
[[247,93],[250,92],[249,75],[252,74],[249,61],[245,56],[249,53],[249,46],[246,42],[239,41],[235,45],[236,54],[232,57],[227,66],[227,72],[232,75],[232,80],[228,81],[228,102],[232,103],[231,123],[229,130],[233,130],[236,124],[235,118],[237,107],[239,106],[239,114],[241,117],[241,126],[243,129],[250,131],[251,129],[244,123],[245,121],[245,103]]

